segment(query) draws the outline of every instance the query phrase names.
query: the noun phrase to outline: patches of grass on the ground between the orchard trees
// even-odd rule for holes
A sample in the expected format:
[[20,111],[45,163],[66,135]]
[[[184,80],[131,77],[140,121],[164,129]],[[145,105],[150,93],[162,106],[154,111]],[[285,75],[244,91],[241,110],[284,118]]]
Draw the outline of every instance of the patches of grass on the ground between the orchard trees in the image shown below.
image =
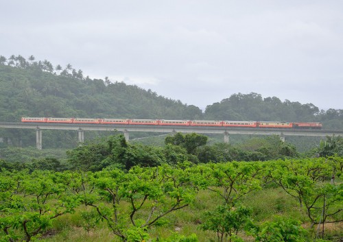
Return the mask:
[[[190,206],[182,210],[177,210],[170,213],[164,219],[161,226],[153,226],[150,230],[150,236],[169,237],[172,233],[177,232],[183,235],[197,234],[199,242],[208,242],[210,239],[215,239],[215,233],[202,231],[199,229],[199,224],[202,223],[202,214],[206,210],[213,210],[218,204],[222,204],[222,199],[217,194],[211,191],[199,191],[196,200]],[[306,215],[300,209],[298,202],[293,197],[285,194],[279,188],[269,188],[263,191],[254,191],[241,199],[242,204],[252,208],[252,217],[255,222],[262,223],[280,215],[284,217],[292,217],[303,221],[303,226],[309,227]],[[123,209],[128,210],[128,204],[124,204]],[[81,206],[75,213],[58,217],[54,221],[53,228],[49,232],[43,234],[43,239],[47,242],[88,242],[88,241],[121,241],[118,237],[108,230],[106,223],[100,222],[95,228],[87,232],[84,230],[84,220],[82,219],[82,210],[89,210]],[[147,213],[147,211],[143,211]],[[143,216],[143,213],[141,216]],[[342,223],[326,224],[325,225],[326,239],[331,241],[340,241],[342,238]],[[311,234],[316,234],[316,228],[309,229]],[[246,234],[239,234],[244,241],[253,241],[252,237]]]

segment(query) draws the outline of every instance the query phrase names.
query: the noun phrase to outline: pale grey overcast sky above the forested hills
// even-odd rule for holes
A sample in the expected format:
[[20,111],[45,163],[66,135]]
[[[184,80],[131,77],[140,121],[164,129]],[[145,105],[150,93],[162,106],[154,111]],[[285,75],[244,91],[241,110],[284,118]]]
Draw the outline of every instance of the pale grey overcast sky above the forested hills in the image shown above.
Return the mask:
[[250,92],[343,108],[341,0],[0,0],[0,54],[200,108]]

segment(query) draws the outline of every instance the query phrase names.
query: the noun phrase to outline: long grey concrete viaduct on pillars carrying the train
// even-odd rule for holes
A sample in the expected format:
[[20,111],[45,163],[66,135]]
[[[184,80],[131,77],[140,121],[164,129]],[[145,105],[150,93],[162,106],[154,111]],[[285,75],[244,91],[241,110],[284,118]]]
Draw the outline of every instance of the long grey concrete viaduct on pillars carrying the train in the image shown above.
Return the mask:
[[36,147],[42,149],[42,130],[75,130],[78,132],[80,143],[84,142],[84,132],[113,131],[123,132],[126,140],[130,138],[130,132],[161,132],[161,133],[200,133],[200,134],[223,134],[224,142],[229,143],[230,134],[261,134],[279,135],[282,141],[285,136],[343,136],[341,130],[303,130],[303,129],[276,129],[276,128],[229,128],[207,126],[175,126],[175,125],[109,125],[109,124],[86,124],[86,123],[0,123],[0,128],[8,129],[32,129],[36,130]]

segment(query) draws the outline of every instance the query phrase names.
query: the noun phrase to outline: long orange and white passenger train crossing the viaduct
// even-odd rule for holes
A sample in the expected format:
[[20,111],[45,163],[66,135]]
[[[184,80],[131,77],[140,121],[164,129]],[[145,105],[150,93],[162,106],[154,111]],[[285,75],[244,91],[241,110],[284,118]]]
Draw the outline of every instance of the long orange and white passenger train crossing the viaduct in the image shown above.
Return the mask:
[[166,119],[89,119],[89,118],[45,118],[22,117],[24,123],[96,123],[116,125],[174,125],[174,126],[213,126],[233,128],[322,128],[322,123],[282,122],[282,121],[211,121],[211,120],[166,120]]

